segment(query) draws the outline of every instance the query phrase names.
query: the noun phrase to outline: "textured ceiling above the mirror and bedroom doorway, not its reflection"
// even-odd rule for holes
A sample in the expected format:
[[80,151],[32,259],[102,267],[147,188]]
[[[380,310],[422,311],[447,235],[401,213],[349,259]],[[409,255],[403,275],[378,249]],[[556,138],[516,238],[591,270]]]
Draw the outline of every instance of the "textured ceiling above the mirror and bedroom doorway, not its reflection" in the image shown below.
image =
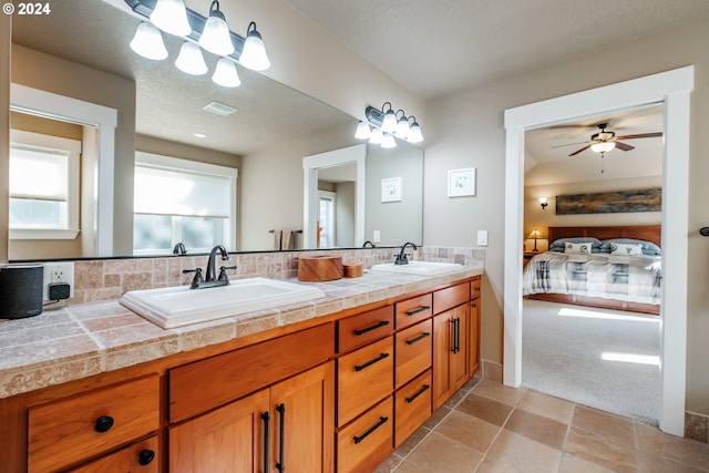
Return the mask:
[[422,99],[709,16],[707,0],[287,0]]

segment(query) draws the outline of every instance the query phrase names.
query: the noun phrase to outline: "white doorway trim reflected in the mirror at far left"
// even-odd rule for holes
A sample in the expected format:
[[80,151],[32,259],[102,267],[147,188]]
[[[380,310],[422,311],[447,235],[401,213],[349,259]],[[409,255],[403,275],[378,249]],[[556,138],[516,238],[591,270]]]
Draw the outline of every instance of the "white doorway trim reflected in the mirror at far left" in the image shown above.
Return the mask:
[[99,130],[96,256],[113,256],[113,171],[119,112],[16,83],[10,84],[10,109],[95,126]]

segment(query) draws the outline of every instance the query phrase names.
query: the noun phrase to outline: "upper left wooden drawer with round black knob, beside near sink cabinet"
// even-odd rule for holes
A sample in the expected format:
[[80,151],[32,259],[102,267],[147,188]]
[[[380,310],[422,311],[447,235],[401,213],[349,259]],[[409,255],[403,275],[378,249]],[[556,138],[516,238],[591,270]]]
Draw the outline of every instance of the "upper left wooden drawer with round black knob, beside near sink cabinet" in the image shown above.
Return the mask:
[[61,470],[158,428],[160,378],[150,376],[29,409],[30,473]]

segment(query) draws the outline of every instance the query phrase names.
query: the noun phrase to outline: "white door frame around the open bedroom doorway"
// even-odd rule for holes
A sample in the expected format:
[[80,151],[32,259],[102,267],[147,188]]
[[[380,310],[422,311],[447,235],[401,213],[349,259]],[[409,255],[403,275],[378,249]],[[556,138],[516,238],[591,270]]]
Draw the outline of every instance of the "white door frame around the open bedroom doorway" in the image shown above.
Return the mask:
[[662,342],[660,429],[684,435],[687,369],[687,235],[689,183],[689,65],[505,111],[505,278],[503,382],[522,382],[522,223],[524,132],[623,109],[664,103]]

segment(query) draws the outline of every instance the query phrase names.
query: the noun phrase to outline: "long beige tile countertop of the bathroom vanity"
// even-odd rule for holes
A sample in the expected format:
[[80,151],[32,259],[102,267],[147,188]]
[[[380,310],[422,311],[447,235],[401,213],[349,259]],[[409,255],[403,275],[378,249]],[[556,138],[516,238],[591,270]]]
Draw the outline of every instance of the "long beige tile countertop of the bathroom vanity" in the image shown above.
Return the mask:
[[[0,398],[308,320],[483,273],[483,264],[440,276],[366,271],[317,285],[323,299],[165,330],[117,300],[68,306],[0,322]],[[291,279],[298,282],[297,279]]]

